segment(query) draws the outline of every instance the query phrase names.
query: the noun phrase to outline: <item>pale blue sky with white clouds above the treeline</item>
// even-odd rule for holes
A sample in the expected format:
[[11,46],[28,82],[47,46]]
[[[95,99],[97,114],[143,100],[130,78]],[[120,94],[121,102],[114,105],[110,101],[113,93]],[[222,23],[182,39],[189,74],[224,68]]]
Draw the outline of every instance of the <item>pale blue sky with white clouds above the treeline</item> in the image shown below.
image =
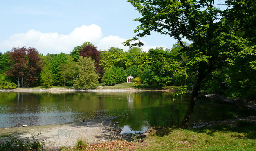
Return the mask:
[[[70,53],[84,41],[101,50],[120,47],[135,36],[140,16],[126,0],[16,0],[0,5],[0,51],[36,47],[40,53]],[[152,33],[142,38],[144,51],[171,46],[175,39]]]

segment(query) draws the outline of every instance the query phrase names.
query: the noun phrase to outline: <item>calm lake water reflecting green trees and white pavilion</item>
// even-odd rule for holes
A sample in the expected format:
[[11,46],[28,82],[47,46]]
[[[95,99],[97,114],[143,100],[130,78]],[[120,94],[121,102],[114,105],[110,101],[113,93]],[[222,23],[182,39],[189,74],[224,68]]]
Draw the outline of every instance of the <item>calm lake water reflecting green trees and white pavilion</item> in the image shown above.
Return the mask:
[[[148,126],[175,125],[183,119],[189,95],[173,101],[167,92],[141,93],[0,93],[0,127],[46,125],[108,116],[121,128],[142,131]],[[231,119],[255,114],[245,108],[199,98],[191,121]]]

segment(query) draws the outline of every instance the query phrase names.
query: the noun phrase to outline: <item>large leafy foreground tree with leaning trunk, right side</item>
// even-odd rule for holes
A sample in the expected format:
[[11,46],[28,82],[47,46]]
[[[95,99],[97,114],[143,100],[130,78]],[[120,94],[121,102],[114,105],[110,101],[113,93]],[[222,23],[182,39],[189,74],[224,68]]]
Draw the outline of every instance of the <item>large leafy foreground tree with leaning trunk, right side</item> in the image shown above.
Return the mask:
[[[126,46],[142,46],[134,40],[152,31],[169,35],[178,40],[188,56],[186,67],[194,70],[197,80],[191,93],[189,106],[182,127],[187,128],[193,113],[195,100],[202,81],[211,77],[212,72],[221,67],[233,68],[237,60],[248,58],[244,66],[256,70],[255,40],[255,0],[226,0],[227,9],[221,10],[214,0],[128,0],[140,18],[141,24],[135,32],[136,37],[125,42]],[[186,38],[193,43],[187,47],[182,43]],[[252,59],[254,58],[254,60]],[[245,75],[249,77],[249,75]],[[255,77],[252,78],[255,80]]]

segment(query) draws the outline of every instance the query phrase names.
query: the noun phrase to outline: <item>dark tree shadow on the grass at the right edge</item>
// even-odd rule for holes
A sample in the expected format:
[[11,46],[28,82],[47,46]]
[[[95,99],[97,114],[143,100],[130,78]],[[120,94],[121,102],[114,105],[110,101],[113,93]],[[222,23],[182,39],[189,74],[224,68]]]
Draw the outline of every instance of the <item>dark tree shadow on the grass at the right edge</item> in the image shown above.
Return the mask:
[[[256,139],[256,123],[247,122],[247,124],[237,126],[214,126],[191,129],[193,132],[206,133],[207,135],[214,136],[216,132],[236,132],[231,137],[239,139]],[[242,134],[238,134],[242,133]]]

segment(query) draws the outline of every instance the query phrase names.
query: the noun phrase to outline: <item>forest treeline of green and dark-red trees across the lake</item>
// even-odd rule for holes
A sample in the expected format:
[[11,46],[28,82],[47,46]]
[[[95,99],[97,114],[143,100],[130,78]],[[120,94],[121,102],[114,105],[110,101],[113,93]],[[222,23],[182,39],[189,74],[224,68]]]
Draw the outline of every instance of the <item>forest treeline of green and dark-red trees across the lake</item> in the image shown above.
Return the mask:
[[[183,42],[187,47],[189,44]],[[171,49],[162,47],[142,51],[132,47],[128,51],[110,47],[100,51],[94,44],[84,42],[70,54],[39,54],[35,48],[14,47],[0,54],[0,88],[34,86],[75,86],[88,89],[96,83],[114,85],[126,82],[126,77],[140,77],[141,83],[154,86],[186,86],[193,88],[196,71],[187,70],[188,56],[176,43]],[[243,60],[250,61],[250,60]],[[222,67],[202,83],[208,93],[225,93],[231,97],[248,97],[256,93],[255,72],[248,68],[237,72]]]

